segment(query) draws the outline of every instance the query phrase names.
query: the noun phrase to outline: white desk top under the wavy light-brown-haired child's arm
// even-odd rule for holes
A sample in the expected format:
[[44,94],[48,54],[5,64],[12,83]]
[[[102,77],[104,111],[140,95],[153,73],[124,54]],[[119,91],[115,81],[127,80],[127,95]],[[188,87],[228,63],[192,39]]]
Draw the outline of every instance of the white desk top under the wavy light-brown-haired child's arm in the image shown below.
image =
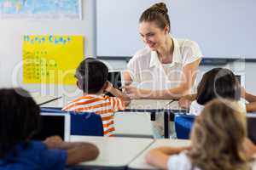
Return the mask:
[[157,139],[143,153],[128,165],[129,169],[156,169],[156,167],[148,165],[146,162],[146,154],[149,150],[160,146],[186,146],[190,144],[190,140],[184,139]]

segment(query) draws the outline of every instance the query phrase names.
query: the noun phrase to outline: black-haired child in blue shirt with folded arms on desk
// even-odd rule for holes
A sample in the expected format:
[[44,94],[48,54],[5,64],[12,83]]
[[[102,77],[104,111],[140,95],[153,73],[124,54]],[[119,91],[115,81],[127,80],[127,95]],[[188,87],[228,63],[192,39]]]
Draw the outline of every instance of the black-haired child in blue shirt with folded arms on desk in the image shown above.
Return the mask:
[[0,89],[0,169],[64,170],[66,165],[96,159],[98,150],[87,143],[49,137],[30,140],[40,126],[40,109],[21,88]]

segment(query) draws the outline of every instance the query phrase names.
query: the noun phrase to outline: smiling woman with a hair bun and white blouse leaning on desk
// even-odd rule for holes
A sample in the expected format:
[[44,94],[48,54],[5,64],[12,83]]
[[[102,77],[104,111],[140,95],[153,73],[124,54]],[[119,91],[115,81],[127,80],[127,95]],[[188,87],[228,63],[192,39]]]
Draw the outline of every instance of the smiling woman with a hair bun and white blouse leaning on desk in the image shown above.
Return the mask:
[[[124,72],[124,88],[132,99],[179,99],[193,88],[201,49],[196,42],[172,37],[167,13],[165,3],[155,3],[139,19],[139,33],[147,46],[137,51]],[[163,120],[156,114],[154,138],[164,136]],[[173,123],[170,127],[175,137]]]

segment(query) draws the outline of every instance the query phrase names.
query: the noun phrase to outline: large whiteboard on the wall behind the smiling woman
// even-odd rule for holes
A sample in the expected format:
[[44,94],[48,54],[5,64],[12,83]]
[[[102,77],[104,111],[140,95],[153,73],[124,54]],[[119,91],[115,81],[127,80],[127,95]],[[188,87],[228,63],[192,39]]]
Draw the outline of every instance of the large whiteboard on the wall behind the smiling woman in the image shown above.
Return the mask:
[[[144,47],[143,10],[156,0],[97,0],[97,56],[132,56]],[[172,36],[198,42],[205,58],[256,59],[255,0],[166,0]]]

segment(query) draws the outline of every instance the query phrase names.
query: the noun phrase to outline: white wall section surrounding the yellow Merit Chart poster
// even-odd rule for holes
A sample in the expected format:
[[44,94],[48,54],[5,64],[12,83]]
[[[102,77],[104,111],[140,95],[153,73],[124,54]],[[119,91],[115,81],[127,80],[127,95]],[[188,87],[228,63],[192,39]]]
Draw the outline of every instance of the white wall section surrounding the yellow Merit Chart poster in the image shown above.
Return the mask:
[[83,35],[85,56],[96,56],[95,0],[82,1],[82,20],[0,20],[0,88],[21,86],[35,95],[77,95],[75,86],[22,83],[23,35]]

